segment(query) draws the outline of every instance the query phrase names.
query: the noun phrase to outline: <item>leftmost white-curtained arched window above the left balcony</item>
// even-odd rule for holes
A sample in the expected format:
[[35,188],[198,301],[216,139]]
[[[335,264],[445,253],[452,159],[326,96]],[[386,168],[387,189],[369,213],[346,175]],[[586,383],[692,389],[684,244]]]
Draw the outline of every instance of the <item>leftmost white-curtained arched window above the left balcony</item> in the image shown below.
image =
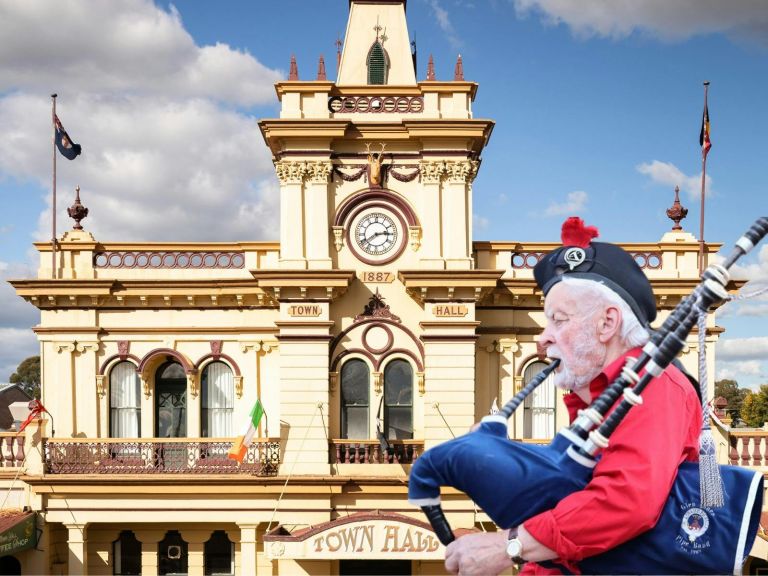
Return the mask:
[[131,362],[118,362],[109,372],[109,434],[141,436],[141,383]]

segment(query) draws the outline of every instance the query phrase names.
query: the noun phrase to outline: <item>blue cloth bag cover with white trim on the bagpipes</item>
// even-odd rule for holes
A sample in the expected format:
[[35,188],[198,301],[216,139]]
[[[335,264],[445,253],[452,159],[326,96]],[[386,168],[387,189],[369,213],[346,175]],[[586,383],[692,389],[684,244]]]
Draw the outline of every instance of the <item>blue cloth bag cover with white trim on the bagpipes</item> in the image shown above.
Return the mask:
[[[507,438],[505,423],[439,444],[413,464],[408,499],[438,503],[441,486],[465,492],[501,528],[517,526],[581,490],[592,466],[569,455],[558,435],[549,446]],[[654,528],[579,562],[585,574],[733,574],[752,548],[762,509],[763,476],[720,466],[726,506],[699,506],[699,467],[683,463]],[[642,503],[638,502],[638,506]]]

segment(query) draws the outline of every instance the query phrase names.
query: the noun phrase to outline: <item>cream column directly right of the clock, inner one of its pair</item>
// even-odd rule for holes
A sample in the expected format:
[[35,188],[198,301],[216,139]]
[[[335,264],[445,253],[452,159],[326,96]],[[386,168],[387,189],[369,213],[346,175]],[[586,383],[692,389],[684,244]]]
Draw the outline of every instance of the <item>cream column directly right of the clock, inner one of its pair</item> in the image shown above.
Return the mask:
[[421,267],[431,270],[445,268],[441,244],[442,224],[440,221],[440,181],[445,173],[445,162],[423,161],[419,163],[421,176]]

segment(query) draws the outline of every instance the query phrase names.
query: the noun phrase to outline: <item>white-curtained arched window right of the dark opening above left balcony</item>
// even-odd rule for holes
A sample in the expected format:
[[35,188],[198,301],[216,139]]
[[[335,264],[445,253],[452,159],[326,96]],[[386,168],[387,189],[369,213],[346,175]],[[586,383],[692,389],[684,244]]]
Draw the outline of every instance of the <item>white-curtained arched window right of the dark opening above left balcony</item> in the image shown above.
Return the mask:
[[224,362],[211,362],[203,370],[200,387],[203,394],[202,437],[232,436],[235,409],[235,379]]

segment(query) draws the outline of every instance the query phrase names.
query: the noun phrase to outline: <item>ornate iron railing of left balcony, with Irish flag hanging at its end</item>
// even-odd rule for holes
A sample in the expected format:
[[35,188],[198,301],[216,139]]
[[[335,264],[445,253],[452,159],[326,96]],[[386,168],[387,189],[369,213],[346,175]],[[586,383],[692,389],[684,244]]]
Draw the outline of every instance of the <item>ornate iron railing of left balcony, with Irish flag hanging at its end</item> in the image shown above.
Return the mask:
[[276,476],[279,442],[248,447],[242,463],[227,458],[232,441],[218,439],[72,438],[45,440],[49,474],[250,474]]

